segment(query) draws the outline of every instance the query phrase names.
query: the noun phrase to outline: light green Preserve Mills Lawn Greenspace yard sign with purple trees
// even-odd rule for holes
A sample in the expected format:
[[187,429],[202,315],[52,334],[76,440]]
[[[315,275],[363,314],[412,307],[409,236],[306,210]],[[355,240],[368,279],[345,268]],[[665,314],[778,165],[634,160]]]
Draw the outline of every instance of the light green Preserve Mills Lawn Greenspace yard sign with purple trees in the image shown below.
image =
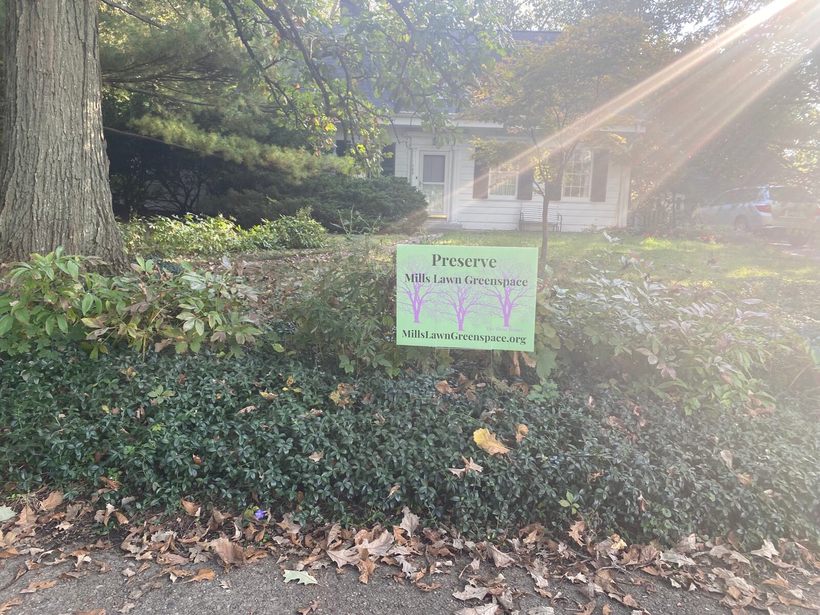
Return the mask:
[[532,350],[538,248],[396,246],[396,340]]

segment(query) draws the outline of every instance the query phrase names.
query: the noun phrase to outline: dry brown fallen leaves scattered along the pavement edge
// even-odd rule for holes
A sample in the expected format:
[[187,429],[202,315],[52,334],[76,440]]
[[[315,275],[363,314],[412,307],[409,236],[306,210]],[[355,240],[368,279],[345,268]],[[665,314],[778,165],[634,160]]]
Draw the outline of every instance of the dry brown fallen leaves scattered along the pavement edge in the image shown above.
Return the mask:
[[[483,437],[477,440],[484,442]],[[500,453],[492,439],[487,443]],[[481,471],[472,459],[463,462],[463,470],[451,470],[456,476]],[[490,543],[468,540],[446,527],[424,527],[406,507],[393,526],[303,527],[294,522],[292,513],[276,521],[267,512],[262,518],[234,515],[216,508],[208,511],[189,500],[180,501],[185,514],[175,520],[148,517],[134,522],[112,503],[94,505],[100,495],[111,491],[103,488],[87,503],[67,501],[62,493],[52,491],[27,498],[17,509],[0,508],[5,517],[0,522],[0,566],[18,566],[9,585],[22,579],[16,595],[0,604],[0,615],[25,613],[28,594],[48,592],[89,574],[112,572],[98,558],[101,550],[116,548],[110,540],[98,538],[80,549],[45,548],[71,540],[76,544],[101,522],[109,530],[116,529],[122,536],[119,549],[134,560],[113,571],[129,589],[128,602],[117,613],[128,613],[144,594],[169,583],[208,583],[217,578],[214,567],[223,567],[225,574],[268,557],[276,558],[283,582],[300,585],[318,585],[333,570],[343,574],[350,569],[365,584],[378,574],[428,592],[438,590],[445,575],[453,575],[458,583],[452,596],[463,603],[458,615],[523,615],[517,599],[525,593],[544,600],[527,615],[551,615],[557,604],[576,608],[580,615],[608,615],[615,603],[632,615],[645,615],[649,611],[640,595],[652,591],[655,581],[711,595],[732,615],[783,615],[784,608],[791,609],[788,613],[794,613],[794,608],[820,612],[808,591],[820,585],[820,559],[794,540],[764,540],[758,549],[744,553],[736,535],[713,540],[690,535],[674,548],[662,550],[653,544],[626,544],[617,534],[596,541],[578,519],[564,535],[549,535],[544,526],[533,523]],[[125,505],[122,500],[121,505]],[[58,564],[71,570],[48,574]],[[510,567],[528,573],[534,584],[531,590],[508,581],[504,571]],[[553,589],[550,581],[569,581],[586,598],[572,600]],[[229,580],[221,579],[221,586],[230,591]],[[18,607],[21,610],[16,611]],[[319,607],[314,600],[298,612],[312,613]]]

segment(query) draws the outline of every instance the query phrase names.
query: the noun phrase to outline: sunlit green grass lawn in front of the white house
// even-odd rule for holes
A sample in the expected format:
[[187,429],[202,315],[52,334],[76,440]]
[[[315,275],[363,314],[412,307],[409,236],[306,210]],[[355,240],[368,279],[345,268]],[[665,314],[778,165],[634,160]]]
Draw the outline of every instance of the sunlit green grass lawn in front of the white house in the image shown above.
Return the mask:
[[[617,234],[616,234],[617,235]],[[433,244],[540,246],[537,232],[458,231],[431,239]],[[552,233],[549,265],[559,284],[585,275],[607,244],[601,233]],[[713,285],[745,297],[762,298],[799,321],[820,319],[820,262],[782,253],[763,243],[707,244],[699,240],[624,237],[615,249],[653,262],[655,276],[667,282]],[[708,261],[714,259],[713,264]]]

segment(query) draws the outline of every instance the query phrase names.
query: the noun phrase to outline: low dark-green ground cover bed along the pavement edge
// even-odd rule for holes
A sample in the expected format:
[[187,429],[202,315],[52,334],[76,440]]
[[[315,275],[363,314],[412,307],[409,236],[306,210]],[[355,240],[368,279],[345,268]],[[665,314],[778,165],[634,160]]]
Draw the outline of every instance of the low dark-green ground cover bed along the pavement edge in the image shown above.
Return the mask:
[[[339,379],[258,349],[228,361],[112,352],[99,362],[69,349],[0,364],[0,472],[16,490],[46,482],[71,493],[107,476],[121,489],[101,501],[134,496],[136,508],[182,497],[234,509],[298,503],[303,520],[356,522],[408,505],[471,535],[534,521],[566,529],[569,491],[591,529],[634,540],[737,530],[752,542],[816,542],[816,411],[685,417],[608,394],[588,403],[588,377],[561,383],[577,395],[534,403],[471,380],[438,394],[428,376]],[[520,443],[519,423],[529,427]],[[482,427],[509,455],[476,446]],[[483,471],[453,475],[462,455]]]

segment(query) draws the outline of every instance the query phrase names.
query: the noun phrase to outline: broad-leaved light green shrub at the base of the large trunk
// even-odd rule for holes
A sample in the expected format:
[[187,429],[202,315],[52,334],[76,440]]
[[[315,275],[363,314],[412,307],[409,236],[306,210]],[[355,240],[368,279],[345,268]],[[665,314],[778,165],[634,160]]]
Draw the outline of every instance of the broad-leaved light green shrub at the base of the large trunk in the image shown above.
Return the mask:
[[185,263],[180,274],[160,273],[141,258],[128,276],[83,271],[101,264],[60,248],[13,263],[10,288],[0,295],[0,352],[56,356],[82,340],[92,358],[118,343],[142,351],[171,344],[177,353],[209,344],[230,356],[260,333],[251,318],[257,295],[230,272],[194,271]]

